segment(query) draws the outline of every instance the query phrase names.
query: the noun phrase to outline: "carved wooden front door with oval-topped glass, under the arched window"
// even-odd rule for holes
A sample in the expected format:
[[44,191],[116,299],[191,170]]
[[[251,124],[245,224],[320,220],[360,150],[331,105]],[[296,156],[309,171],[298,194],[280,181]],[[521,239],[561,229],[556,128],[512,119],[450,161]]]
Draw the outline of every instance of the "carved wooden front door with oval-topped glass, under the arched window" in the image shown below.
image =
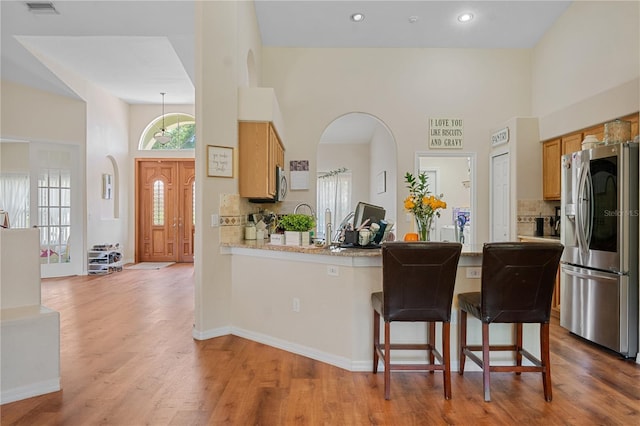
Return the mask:
[[136,262],[193,262],[195,162],[137,160]]

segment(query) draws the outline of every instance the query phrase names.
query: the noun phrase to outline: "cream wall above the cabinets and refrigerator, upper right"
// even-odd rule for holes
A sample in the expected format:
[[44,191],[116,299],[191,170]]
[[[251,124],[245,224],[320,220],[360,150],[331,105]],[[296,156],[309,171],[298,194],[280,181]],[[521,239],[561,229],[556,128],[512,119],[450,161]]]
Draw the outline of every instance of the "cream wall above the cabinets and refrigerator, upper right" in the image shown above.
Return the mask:
[[640,2],[574,1],[532,52],[540,137],[640,109]]

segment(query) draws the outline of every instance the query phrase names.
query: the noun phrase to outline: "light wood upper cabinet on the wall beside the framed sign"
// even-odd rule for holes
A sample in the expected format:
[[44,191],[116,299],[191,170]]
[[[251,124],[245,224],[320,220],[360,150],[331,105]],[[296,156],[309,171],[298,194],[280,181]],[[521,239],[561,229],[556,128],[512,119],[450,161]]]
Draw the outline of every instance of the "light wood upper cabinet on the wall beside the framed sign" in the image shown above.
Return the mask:
[[238,167],[241,197],[257,200],[275,198],[276,168],[284,168],[284,146],[272,123],[238,123]]

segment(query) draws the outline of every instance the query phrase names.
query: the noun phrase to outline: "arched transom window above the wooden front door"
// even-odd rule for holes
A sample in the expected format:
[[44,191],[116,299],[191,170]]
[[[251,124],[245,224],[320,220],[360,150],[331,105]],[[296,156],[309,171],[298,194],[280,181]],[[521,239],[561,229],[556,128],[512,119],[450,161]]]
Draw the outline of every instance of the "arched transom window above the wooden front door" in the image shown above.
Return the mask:
[[154,135],[162,130],[162,116],[153,120],[140,138],[138,149],[148,150],[193,150],[196,146],[196,122],[189,114],[169,113],[164,115],[165,133],[170,136],[167,143],[160,143]]

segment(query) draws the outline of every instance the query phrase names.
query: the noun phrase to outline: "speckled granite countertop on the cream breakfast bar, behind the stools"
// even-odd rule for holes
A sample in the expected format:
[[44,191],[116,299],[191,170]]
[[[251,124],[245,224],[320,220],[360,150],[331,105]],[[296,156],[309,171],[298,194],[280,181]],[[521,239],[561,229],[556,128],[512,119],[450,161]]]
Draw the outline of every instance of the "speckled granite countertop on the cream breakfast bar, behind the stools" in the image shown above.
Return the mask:
[[[316,247],[309,246],[286,246],[271,244],[267,241],[243,240],[237,243],[222,243],[220,247],[229,248],[251,248],[259,250],[273,250],[290,253],[320,254],[325,256],[350,256],[350,257],[374,257],[381,255],[381,249],[371,248],[341,248],[341,247]],[[482,245],[463,246],[462,256],[482,256]]]

